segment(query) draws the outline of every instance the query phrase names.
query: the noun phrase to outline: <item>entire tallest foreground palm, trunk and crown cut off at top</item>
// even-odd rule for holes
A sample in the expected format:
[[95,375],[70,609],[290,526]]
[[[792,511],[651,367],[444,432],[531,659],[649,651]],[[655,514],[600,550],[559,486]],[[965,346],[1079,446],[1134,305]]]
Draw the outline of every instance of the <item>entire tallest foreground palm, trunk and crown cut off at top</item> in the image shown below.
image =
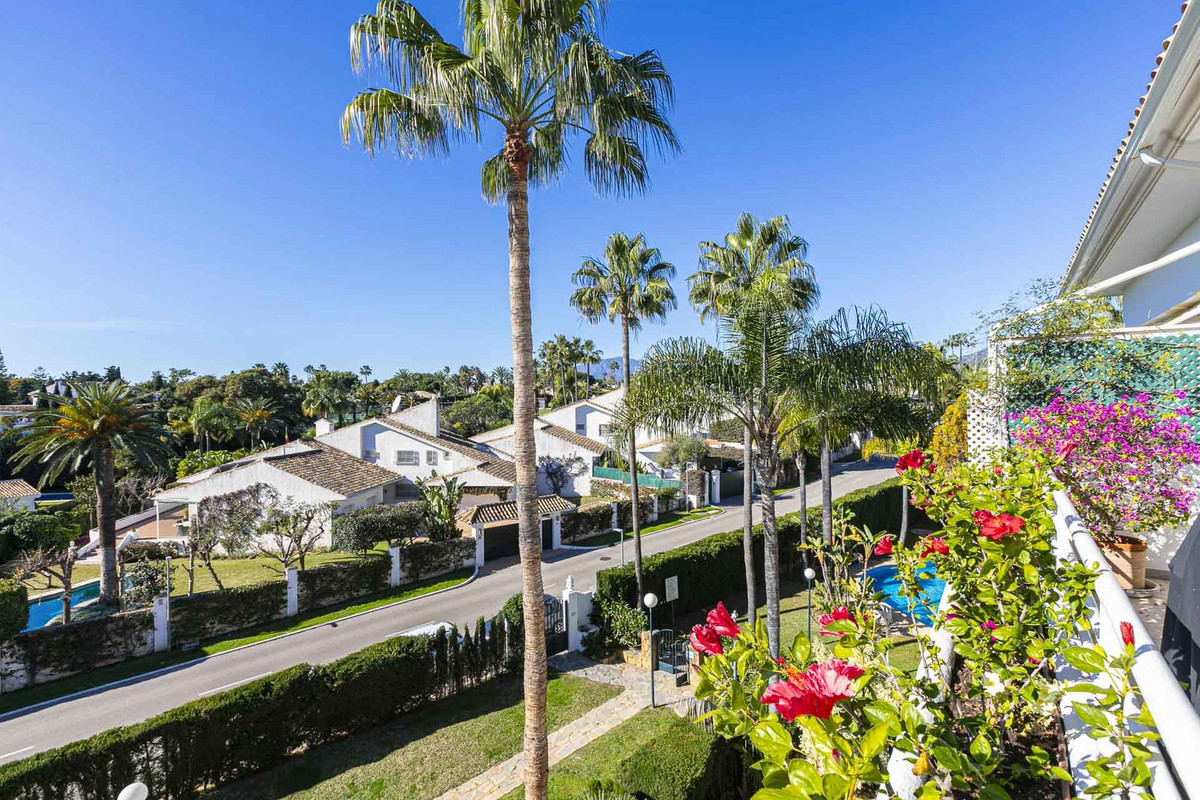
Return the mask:
[[[370,154],[443,155],[458,140],[503,132],[484,163],[488,201],[509,210],[514,461],[526,622],[526,796],[546,796],[546,643],[538,523],[536,414],[529,311],[529,186],[566,172],[568,140],[582,134],[592,184],[617,194],[647,186],[644,151],[678,150],[666,120],[671,78],[653,50],[616,53],[600,38],[605,0],[463,0],[462,47],[409,2],[380,0],[350,31],[354,67],[394,88],[359,94],[342,136]],[[493,125],[494,124],[494,125]]]

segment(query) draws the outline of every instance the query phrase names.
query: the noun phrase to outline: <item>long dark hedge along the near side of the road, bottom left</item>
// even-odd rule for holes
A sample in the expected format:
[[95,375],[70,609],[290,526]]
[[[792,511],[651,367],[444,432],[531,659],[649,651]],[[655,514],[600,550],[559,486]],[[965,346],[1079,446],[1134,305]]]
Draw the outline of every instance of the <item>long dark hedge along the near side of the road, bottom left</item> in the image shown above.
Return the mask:
[[294,752],[368,730],[518,668],[504,625],[460,639],[397,637],[329,664],[298,664],[139,724],[0,766],[11,800],[112,800],[142,781],[182,800],[280,765]]

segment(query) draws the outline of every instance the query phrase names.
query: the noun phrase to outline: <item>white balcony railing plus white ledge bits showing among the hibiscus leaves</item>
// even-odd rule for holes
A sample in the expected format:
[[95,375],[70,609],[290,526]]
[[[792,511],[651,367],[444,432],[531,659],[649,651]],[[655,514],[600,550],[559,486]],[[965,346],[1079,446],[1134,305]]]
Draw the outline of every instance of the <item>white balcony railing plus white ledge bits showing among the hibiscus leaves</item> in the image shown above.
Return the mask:
[[[1196,715],[1183,690],[1175,678],[1142,624],[1138,610],[1108,563],[1096,546],[1091,531],[1079,518],[1075,506],[1064,492],[1055,492],[1057,510],[1055,528],[1057,530],[1056,551],[1060,559],[1078,560],[1099,569],[1096,589],[1090,601],[1092,609],[1092,630],[1078,633],[1079,644],[1099,644],[1109,652],[1117,652],[1121,643],[1121,622],[1133,625],[1136,661],[1133,667],[1133,679],[1141,693],[1142,702],[1154,718],[1154,728],[1160,736],[1157,762],[1152,765],[1154,782],[1151,790],[1157,800],[1175,798],[1200,800],[1200,716]],[[1068,664],[1060,660],[1056,673],[1062,680],[1094,680],[1092,675],[1078,675]],[[1079,697],[1079,696],[1074,696]],[[1072,775],[1075,777],[1075,795],[1090,786],[1091,780],[1082,769],[1091,758],[1100,754],[1104,742],[1082,735],[1084,727],[1074,715],[1070,703],[1072,694],[1062,704],[1063,724],[1067,728],[1067,752]],[[1135,709],[1130,709],[1134,711]]]

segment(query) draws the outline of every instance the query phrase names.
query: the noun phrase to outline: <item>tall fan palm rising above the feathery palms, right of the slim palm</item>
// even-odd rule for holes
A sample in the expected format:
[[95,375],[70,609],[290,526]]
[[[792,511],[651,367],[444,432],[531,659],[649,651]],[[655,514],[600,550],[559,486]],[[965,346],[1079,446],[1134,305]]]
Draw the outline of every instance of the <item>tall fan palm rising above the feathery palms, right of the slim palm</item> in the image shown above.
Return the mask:
[[[808,242],[792,233],[787,217],[770,217],[760,222],[751,213],[738,216],[733,230],[720,243],[700,243],[700,269],[688,278],[688,299],[700,313],[700,321],[714,318],[720,342],[720,320],[733,313],[757,311],[760,317],[784,314],[800,319],[816,307],[820,289],[812,267],[804,260]],[[769,326],[762,326],[767,331]],[[766,386],[767,343],[761,343],[760,392]],[[758,399],[760,404],[763,398]],[[754,432],[746,427],[742,434],[742,547],[746,573],[746,616],[754,622],[757,614],[754,570]],[[767,554],[766,571],[772,571],[773,559]],[[768,597],[773,582],[767,577]],[[772,603],[768,602],[768,612]]]

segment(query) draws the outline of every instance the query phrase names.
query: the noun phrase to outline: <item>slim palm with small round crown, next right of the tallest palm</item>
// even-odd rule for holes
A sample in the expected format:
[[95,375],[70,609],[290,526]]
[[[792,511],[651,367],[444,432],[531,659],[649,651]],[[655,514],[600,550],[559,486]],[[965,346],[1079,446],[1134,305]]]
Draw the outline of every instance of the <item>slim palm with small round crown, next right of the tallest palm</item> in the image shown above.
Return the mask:
[[[662,260],[656,247],[646,243],[644,234],[632,239],[612,234],[604,251],[604,260],[587,258],[571,281],[577,287],[571,293],[571,305],[589,323],[620,321],[620,354],[625,372],[625,392],[629,392],[629,333],[642,329],[643,321],[666,319],[674,308],[671,278],[674,265]],[[629,435],[629,500],[634,521],[634,575],[637,578],[637,607],[642,607],[642,530],[638,519],[637,492],[637,426]]]

